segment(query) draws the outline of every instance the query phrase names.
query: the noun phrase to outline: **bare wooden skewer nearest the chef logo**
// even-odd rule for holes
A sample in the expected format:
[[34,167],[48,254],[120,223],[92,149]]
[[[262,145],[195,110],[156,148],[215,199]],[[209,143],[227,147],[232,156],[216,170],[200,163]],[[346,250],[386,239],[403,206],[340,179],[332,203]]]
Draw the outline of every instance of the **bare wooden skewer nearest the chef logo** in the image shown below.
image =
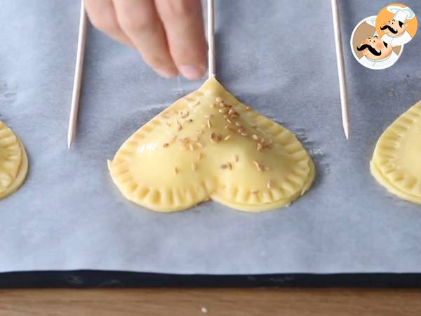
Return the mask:
[[335,48],[336,48],[336,62],[338,64],[338,77],[340,88],[340,105],[342,111],[342,126],[344,128],[345,137],[349,138],[349,121],[348,121],[348,92],[347,80],[345,77],[345,61],[344,51],[342,47],[342,34],[340,31],[340,17],[338,0],[332,1],[332,17],[333,17],[333,30],[335,33]]

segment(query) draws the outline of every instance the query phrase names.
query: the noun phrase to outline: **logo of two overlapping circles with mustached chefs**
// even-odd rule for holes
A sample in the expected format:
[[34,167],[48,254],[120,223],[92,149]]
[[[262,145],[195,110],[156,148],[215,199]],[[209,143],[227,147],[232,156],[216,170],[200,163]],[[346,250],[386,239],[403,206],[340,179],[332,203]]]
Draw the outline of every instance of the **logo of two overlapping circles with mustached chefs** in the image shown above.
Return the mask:
[[351,37],[352,53],[364,67],[383,70],[399,60],[403,46],[416,32],[415,13],[403,4],[391,4],[356,25]]

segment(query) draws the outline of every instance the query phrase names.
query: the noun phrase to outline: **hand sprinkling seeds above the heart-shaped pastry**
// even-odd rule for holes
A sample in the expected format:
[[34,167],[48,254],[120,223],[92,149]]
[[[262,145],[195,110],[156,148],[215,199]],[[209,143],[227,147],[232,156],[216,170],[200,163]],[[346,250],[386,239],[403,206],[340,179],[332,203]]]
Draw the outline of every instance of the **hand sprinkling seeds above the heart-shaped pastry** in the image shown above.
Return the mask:
[[135,48],[162,77],[203,76],[201,0],[85,0],[85,7],[95,27]]

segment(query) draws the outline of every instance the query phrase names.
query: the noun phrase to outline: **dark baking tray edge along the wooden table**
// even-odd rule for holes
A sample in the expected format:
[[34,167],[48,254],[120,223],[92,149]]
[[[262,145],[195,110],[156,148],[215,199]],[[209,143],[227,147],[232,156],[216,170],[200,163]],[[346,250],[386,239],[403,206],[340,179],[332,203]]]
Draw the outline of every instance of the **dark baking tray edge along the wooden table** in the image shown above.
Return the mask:
[[1,289],[135,287],[368,287],[420,288],[417,273],[173,275],[72,270],[0,273]]

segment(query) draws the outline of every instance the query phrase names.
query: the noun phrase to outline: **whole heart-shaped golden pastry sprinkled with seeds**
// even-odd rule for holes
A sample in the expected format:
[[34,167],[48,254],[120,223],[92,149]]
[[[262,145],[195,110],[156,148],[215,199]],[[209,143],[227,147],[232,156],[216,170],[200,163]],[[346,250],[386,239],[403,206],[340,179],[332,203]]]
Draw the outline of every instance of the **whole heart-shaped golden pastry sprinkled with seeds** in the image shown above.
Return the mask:
[[162,212],[208,199],[241,211],[276,209],[314,180],[312,159],[295,136],[216,79],[142,126],[108,166],[124,197]]

